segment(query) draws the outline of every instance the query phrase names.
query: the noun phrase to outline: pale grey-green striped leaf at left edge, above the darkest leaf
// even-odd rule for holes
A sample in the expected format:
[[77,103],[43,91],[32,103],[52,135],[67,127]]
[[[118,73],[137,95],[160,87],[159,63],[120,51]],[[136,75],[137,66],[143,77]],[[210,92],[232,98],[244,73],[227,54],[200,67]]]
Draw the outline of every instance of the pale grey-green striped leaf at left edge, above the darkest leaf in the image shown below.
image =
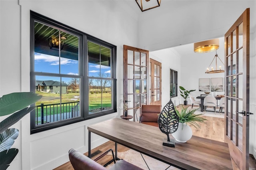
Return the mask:
[[14,140],[19,136],[19,130],[16,128],[8,128],[0,134],[0,152],[10,149]]

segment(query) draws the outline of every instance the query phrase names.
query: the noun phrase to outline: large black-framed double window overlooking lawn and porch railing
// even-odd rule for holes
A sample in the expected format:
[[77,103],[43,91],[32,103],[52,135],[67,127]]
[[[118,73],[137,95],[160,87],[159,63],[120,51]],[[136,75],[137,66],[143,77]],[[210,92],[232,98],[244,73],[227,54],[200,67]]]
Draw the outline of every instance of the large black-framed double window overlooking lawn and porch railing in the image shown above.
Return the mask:
[[116,112],[116,46],[31,12],[31,133]]

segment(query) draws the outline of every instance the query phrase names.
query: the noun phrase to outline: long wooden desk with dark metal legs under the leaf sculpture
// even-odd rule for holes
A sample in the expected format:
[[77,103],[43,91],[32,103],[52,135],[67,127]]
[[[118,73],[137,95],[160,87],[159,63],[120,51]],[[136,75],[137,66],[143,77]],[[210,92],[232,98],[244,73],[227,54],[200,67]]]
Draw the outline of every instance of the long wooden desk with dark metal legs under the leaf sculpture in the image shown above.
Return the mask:
[[[166,134],[159,128],[118,118],[90,125],[88,131],[89,157],[93,132],[180,169],[233,169],[228,144],[224,142],[192,136],[186,143],[176,142],[175,148],[163,146]],[[172,135],[170,138],[174,139]]]

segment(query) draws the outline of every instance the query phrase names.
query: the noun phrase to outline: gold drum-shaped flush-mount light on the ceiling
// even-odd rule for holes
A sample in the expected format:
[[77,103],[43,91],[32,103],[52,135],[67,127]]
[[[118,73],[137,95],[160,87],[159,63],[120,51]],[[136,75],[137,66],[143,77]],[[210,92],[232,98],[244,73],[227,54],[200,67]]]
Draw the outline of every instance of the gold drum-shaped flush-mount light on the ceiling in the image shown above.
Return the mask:
[[218,38],[194,43],[194,52],[207,53],[210,51],[215,51],[220,47],[219,43],[220,40]]

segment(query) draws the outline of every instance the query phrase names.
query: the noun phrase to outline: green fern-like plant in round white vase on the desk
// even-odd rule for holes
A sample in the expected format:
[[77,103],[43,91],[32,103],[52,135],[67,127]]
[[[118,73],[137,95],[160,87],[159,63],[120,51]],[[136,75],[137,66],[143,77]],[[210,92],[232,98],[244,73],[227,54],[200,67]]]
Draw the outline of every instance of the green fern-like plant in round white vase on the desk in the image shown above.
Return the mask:
[[199,108],[190,110],[188,108],[184,108],[183,105],[181,105],[180,111],[176,106],[174,106],[174,109],[179,117],[179,125],[176,132],[172,133],[172,136],[178,142],[184,143],[192,137],[192,129],[188,124],[194,126],[195,128],[200,128],[198,123],[206,124],[205,121],[208,121],[207,119],[201,117],[201,115],[204,115],[203,113],[195,114]]

